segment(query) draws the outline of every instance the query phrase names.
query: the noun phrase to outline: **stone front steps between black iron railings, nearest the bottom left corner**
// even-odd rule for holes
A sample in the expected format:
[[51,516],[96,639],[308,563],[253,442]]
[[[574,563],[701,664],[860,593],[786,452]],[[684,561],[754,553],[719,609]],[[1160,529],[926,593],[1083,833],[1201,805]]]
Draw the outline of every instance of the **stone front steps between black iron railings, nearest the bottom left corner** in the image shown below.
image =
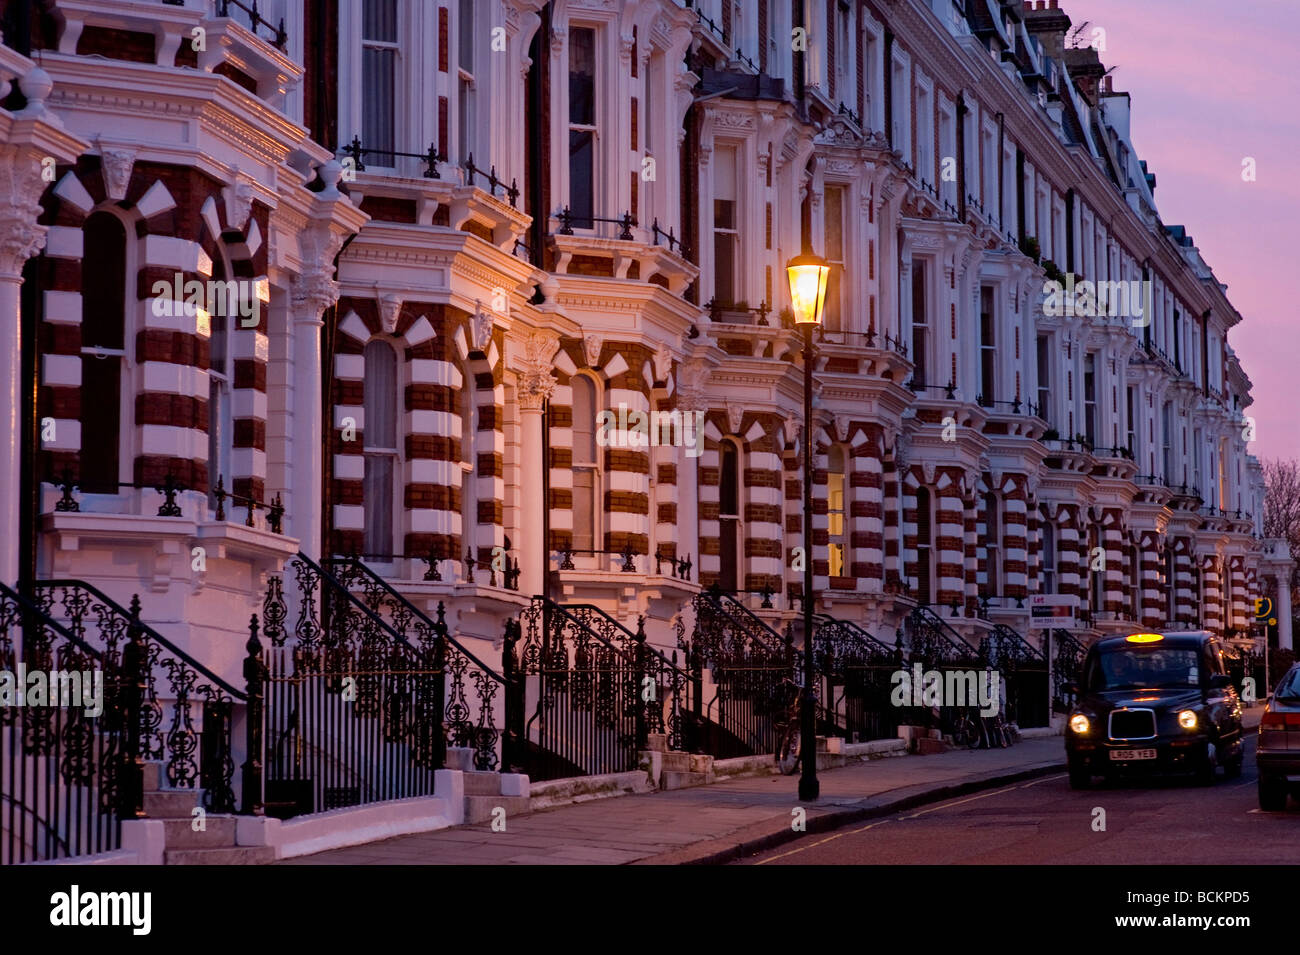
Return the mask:
[[[164,865],[261,865],[276,861],[273,846],[240,846],[238,820],[229,815],[208,812],[195,816],[202,807],[202,790],[164,789],[162,763],[144,764],[144,815],[162,822]],[[195,820],[203,828],[195,830]]]

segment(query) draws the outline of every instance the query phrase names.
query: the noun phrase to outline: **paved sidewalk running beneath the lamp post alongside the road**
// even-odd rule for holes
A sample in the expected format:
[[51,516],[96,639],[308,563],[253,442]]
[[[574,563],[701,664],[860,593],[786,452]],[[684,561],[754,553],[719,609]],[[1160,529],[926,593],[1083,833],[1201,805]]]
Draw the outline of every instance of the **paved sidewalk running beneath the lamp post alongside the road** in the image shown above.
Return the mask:
[[[892,756],[819,773],[807,832],[1065,770],[1061,737],[1006,750]],[[757,776],[542,809],[490,825],[403,835],[285,860],[299,865],[681,864],[720,863],[796,835],[797,776]]]

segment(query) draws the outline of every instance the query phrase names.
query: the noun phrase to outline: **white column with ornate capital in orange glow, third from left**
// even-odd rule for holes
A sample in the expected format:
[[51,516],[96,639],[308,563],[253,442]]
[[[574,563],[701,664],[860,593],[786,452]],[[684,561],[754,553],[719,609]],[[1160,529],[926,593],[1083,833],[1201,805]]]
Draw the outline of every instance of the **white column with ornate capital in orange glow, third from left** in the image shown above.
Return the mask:
[[555,390],[551,357],[559,343],[546,335],[530,335],[524,342],[524,368],[519,373],[519,473],[520,473],[520,538],[519,590],[526,596],[545,592],[550,563],[546,541],[546,469],[542,459],[542,409]]

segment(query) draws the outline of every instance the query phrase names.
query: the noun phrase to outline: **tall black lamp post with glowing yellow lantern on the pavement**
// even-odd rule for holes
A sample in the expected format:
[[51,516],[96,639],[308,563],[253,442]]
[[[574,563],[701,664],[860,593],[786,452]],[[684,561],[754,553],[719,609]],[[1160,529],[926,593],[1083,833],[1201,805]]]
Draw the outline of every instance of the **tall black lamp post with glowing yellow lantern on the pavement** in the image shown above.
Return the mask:
[[800,802],[822,791],[816,778],[816,709],[812,704],[812,330],[822,324],[831,266],[815,255],[798,255],[785,266],[794,322],[803,330],[803,708],[800,752]]

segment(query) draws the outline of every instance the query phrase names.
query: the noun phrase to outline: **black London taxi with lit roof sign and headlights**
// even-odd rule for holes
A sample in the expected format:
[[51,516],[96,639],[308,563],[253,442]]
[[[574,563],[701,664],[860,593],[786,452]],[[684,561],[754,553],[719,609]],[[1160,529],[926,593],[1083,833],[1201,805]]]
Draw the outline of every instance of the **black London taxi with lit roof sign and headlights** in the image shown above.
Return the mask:
[[1242,772],[1242,702],[1209,633],[1135,633],[1097,641],[1083,660],[1065,729],[1070,786],[1093,776]]

